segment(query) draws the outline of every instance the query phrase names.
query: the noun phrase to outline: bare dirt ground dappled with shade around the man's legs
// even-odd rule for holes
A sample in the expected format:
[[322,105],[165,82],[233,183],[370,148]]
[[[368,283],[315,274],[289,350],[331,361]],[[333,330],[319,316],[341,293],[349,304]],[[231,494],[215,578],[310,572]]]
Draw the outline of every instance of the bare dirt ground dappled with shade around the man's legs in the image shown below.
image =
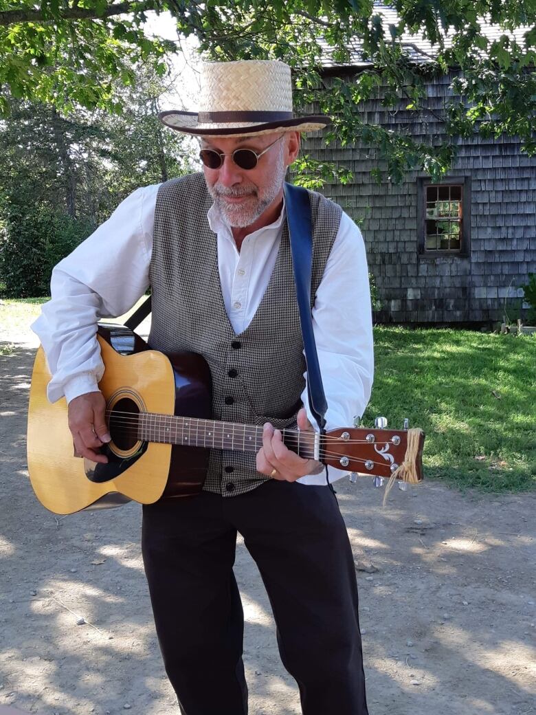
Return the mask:
[[[142,571],[140,507],[58,518],[36,501],[25,456],[36,343],[0,331],[0,348],[12,345],[0,355],[0,705],[178,715]],[[369,478],[337,492],[357,568],[370,715],[536,714],[536,495],[461,494],[435,482],[394,489],[383,509]],[[235,571],[250,714],[299,714],[242,543]]]

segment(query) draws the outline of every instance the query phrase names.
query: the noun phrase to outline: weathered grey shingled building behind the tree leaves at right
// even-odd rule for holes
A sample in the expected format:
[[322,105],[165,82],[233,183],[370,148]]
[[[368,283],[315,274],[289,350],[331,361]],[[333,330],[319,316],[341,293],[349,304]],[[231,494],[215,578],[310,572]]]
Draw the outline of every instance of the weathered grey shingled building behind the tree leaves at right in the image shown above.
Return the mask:
[[[387,23],[397,22],[394,10],[377,6]],[[486,26],[488,38],[502,31]],[[518,33],[520,38],[522,31]],[[520,39],[521,41],[521,39]],[[418,36],[403,44],[415,61],[430,60],[433,48]],[[352,64],[326,61],[324,84],[333,77],[352,77],[370,69],[352,48]],[[425,104],[440,114],[454,71],[427,84]],[[367,122],[405,132],[418,140],[447,141],[445,125],[434,114],[382,107],[381,92],[355,107]],[[420,172],[407,174],[402,184],[378,185],[371,169],[382,169],[373,147],[342,147],[312,135],[305,148],[315,159],[351,169],[349,184],[327,184],[324,193],[344,207],[360,225],[367,244],[381,308],[377,322],[425,324],[486,324],[501,320],[522,296],[520,285],[536,273],[536,157],[520,152],[515,137],[458,139],[458,155],[447,176],[437,184]],[[521,303],[517,300],[518,307]],[[514,317],[519,317],[515,315]]]

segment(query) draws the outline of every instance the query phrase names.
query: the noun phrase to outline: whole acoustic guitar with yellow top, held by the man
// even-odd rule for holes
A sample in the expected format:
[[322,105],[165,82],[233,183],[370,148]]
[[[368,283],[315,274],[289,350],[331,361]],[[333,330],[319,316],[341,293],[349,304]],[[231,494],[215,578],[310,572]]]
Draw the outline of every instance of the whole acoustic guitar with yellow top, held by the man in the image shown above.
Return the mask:
[[[39,501],[57,514],[119,506],[134,500],[199,493],[210,449],[257,452],[262,425],[212,419],[212,380],[201,355],[164,355],[118,325],[99,325],[111,442],[107,464],[74,455],[64,398],[51,404],[51,375],[37,351],[28,417],[28,468]],[[380,480],[422,480],[422,430],[339,428],[327,434],[282,430],[285,445],[304,458]]]

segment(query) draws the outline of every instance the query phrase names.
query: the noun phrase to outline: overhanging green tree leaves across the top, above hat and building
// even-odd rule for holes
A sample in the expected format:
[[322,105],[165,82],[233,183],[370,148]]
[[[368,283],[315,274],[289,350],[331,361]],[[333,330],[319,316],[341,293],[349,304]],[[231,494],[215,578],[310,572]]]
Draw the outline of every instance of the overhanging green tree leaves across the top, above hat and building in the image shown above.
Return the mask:
[[[176,43],[144,32],[149,11],[169,10],[179,33],[195,36],[207,56],[289,62],[297,109],[314,102],[333,114],[328,142],[375,147],[383,162],[375,169],[377,181],[399,182],[409,169],[440,179],[455,156],[456,137],[475,132],[517,135],[524,150],[536,154],[536,26],[521,44],[507,34],[488,41],[482,33],[484,17],[505,33],[535,25],[535,1],[395,0],[392,5],[397,25],[383,23],[373,0],[0,0],[0,87],[9,87],[11,97],[52,102],[61,111],[81,105],[120,112],[124,99],[114,82],[133,84],[135,61],[154,61],[163,75],[166,53],[177,50]],[[421,32],[437,54],[421,64],[410,62],[401,41],[405,31]],[[318,68],[328,48],[332,61],[344,64],[356,38],[363,61],[373,66],[352,79],[325,82]],[[452,68],[453,96],[438,111],[428,102],[426,84]],[[419,141],[409,131],[364,124],[359,107],[380,94],[385,107],[409,113],[408,127],[444,122],[452,139],[437,146],[433,132]],[[5,113],[6,97],[0,102]],[[304,167],[304,183],[317,185],[324,169]]]

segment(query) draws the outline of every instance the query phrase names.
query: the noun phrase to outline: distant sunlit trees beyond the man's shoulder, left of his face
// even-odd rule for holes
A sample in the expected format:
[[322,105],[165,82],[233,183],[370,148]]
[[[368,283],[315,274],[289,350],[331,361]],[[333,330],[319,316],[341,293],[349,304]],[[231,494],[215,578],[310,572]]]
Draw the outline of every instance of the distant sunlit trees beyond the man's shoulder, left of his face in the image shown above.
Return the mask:
[[184,137],[157,119],[167,84],[150,66],[137,68],[136,87],[118,87],[120,116],[10,100],[0,123],[0,194],[24,210],[62,207],[94,226],[135,188],[190,169]]

